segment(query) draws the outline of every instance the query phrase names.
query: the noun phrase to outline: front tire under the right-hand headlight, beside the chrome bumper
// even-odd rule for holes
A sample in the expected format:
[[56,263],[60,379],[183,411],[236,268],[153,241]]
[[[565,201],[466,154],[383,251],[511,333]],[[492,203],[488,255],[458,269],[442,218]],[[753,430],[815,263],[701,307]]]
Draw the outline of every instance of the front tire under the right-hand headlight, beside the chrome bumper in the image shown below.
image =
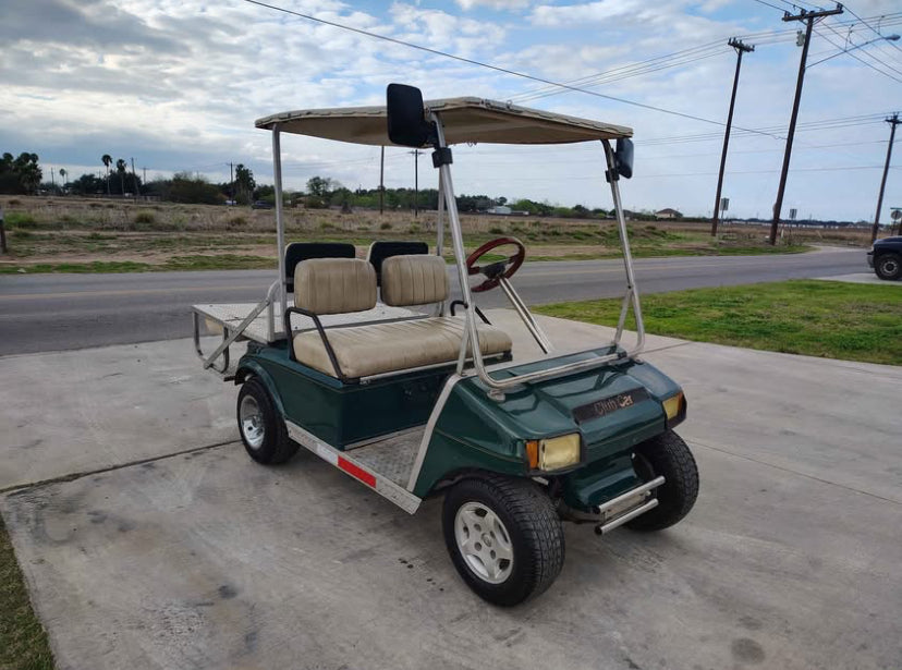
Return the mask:
[[688,444],[672,430],[639,444],[634,455],[639,477],[648,482],[663,475],[655,489],[658,507],[626,522],[634,531],[660,531],[690,513],[698,497],[698,467]]

